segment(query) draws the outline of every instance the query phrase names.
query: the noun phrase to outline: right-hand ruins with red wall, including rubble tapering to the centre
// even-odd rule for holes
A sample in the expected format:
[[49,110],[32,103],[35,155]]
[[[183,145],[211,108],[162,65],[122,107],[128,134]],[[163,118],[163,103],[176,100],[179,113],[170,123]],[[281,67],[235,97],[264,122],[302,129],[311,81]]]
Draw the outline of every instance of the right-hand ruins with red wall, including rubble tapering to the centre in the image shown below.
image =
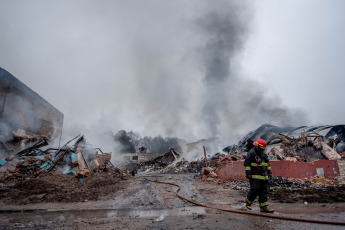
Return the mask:
[[[175,157],[176,154],[169,151],[164,154],[164,162],[160,156],[136,167],[144,172],[200,173],[223,181],[246,180],[245,156],[253,147],[253,141],[263,138],[267,140],[273,176],[280,184],[292,184],[292,181],[341,184],[345,182],[344,137],[345,125],[297,128],[263,125],[249,132],[237,145],[224,148],[226,155],[217,152],[206,156],[205,152],[204,158],[187,161],[184,154],[179,153]],[[202,155],[200,151],[198,155]]]

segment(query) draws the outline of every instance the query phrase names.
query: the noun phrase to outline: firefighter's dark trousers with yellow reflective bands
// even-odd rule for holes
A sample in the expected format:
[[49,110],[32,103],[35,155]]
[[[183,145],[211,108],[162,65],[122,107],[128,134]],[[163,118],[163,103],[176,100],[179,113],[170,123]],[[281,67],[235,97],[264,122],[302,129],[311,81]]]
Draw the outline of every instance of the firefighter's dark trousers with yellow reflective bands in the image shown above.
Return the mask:
[[259,205],[260,207],[265,207],[268,205],[267,203],[267,195],[269,191],[269,183],[268,180],[258,180],[258,179],[250,179],[250,190],[247,195],[247,202],[252,204],[256,198],[259,196]]

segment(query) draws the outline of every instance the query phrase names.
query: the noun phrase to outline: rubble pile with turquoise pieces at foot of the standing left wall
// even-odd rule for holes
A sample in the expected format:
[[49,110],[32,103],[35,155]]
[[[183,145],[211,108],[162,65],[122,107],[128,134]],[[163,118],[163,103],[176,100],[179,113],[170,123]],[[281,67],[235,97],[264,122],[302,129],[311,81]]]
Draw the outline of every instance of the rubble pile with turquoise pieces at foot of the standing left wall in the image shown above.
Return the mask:
[[[43,138],[31,147],[0,160],[1,184],[9,185],[16,179],[37,178],[47,173],[67,174],[77,178],[107,171],[117,172],[120,177],[128,175],[126,171],[115,168],[110,162],[111,154],[103,153],[101,149],[93,149],[93,154],[88,154],[91,159],[85,159],[84,153],[90,150],[84,149],[85,139],[83,136],[79,136],[68,141],[59,149],[46,150],[42,150],[42,147],[48,144],[47,139]],[[75,139],[77,139],[75,145],[69,147],[68,144]],[[96,150],[99,150],[101,154],[98,154]]]

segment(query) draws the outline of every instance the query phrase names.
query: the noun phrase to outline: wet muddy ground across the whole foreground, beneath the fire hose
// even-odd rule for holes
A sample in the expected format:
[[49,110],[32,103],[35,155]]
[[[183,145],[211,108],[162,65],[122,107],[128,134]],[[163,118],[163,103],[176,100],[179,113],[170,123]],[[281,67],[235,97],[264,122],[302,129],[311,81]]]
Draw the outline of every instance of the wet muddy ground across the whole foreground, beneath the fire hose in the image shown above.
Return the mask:
[[[245,211],[248,182],[192,179],[191,174],[142,174],[123,177],[102,172],[85,178],[45,176],[22,181],[0,192],[1,229],[343,229],[344,226],[312,224],[267,217],[228,213],[197,207],[179,199],[176,187],[155,183],[173,182],[180,195],[200,204]],[[273,191],[273,190],[272,190]],[[319,191],[317,193],[317,191]],[[286,190],[271,195],[273,216],[345,222],[345,203],[314,203],[312,193]],[[319,197],[331,194],[315,190]],[[345,197],[345,190],[334,196]],[[284,198],[284,199],[282,199]],[[307,201],[306,199],[309,199]],[[289,201],[293,200],[294,203]],[[252,211],[259,213],[255,203]]]

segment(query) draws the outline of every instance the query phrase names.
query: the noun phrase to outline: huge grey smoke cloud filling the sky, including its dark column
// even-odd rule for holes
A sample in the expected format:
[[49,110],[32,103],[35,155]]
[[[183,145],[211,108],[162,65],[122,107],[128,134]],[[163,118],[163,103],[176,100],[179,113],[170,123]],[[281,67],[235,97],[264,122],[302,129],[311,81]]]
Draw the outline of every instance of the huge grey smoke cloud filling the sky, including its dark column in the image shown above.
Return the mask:
[[243,71],[254,17],[248,1],[4,1],[0,62],[65,115],[62,143],[81,133],[115,151],[103,134],[117,130],[160,140],[152,152],[160,135],[235,142],[306,121]]

